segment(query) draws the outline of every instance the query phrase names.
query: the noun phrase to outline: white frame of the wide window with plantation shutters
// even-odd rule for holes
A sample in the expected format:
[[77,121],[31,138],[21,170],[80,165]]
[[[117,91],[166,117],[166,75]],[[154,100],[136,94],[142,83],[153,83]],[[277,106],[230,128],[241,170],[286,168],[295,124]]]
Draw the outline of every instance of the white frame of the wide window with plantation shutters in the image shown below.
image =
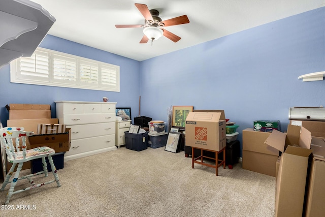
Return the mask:
[[[30,60],[30,57],[19,57],[10,63],[10,82],[11,83],[22,83],[22,84],[35,84],[35,85],[44,85],[44,86],[57,86],[57,87],[69,87],[69,88],[79,88],[79,89],[91,89],[91,90],[104,90],[104,91],[113,91],[113,92],[119,92],[120,91],[120,67],[108,63],[104,63],[102,61],[93,60],[89,58],[84,58],[81,56],[76,56],[68,53],[63,53],[55,50],[50,50],[46,48],[38,47],[33,55],[41,55],[41,54],[47,54],[48,55],[48,74],[42,74],[43,77],[37,76],[37,61],[38,56],[35,59],[31,59],[32,61],[36,61],[35,64],[35,75],[32,75],[34,71],[28,72],[30,75],[25,75],[21,72],[21,58],[23,60],[27,58],[27,60]],[[67,59],[74,61],[75,60],[75,77],[70,77],[71,80],[69,80],[69,76],[62,76],[62,79],[59,79],[59,76],[57,74],[54,75],[54,57],[58,59],[58,56],[61,56],[62,59]],[[34,58],[34,56],[31,56]],[[43,57],[43,56],[42,56]],[[28,59],[29,58],[29,59]],[[44,59],[44,57],[43,57]],[[59,60],[62,60],[59,59]],[[26,60],[26,59],[25,59]],[[64,60],[62,60],[64,61]],[[43,61],[44,63],[44,61]],[[34,63],[33,63],[34,64]],[[46,65],[46,63],[44,63]],[[89,64],[89,66],[92,67],[92,69],[97,69],[97,71],[92,71],[97,74],[94,74],[97,80],[91,78],[87,81],[87,79],[81,79],[81,65]],[[43,65],[42,65],[43,66]],[[45,66],[46,68],[46,66]],[[103,69],[103,71],[102,71]],[[63,71],[67,71],[67,65],[66,68],[63,68]],[[108,71],[108,72],[107,72]],[[56,71],[55,71],[56,72]],[[59,73],[58,73],[59,74]],[[74,75],[73,73],[71,73]],[[87,74],[87,73],[84,73]],[[89,73],[88,73],[89,74]],[[105,77],[105,81],[102,82],[102,74],[103,77]],[[44,76],[48,77],[44,77]],[[115,76],[114,76],[115,75]],[[56,76],[57,78],[54,78]],[[75,79],[75,80],[74,80]]]

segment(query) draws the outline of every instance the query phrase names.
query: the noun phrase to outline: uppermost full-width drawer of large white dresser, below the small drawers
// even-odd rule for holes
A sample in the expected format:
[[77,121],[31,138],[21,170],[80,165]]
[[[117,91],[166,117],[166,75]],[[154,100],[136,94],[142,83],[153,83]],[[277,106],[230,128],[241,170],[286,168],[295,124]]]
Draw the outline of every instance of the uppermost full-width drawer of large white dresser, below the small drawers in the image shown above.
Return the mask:
[[65,125],[84,125],[115,121],[115,114],[67,114],[63,116]]

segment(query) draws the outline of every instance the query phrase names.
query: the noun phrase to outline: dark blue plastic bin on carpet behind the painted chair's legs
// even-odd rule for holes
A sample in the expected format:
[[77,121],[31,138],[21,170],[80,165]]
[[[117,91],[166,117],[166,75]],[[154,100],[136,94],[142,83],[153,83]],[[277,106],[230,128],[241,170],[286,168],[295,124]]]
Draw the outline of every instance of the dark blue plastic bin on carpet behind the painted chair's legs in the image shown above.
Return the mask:
[[[64,167],[64,153],[66,153],[66,152],[58,152],[58,153],[55,153],[52,155],[52,159],[53,159],[55,168],[57,170],[63,169],[63,167]],[[47,165],[47,171],[51,172],[52,168],[51,168],[48,158],[46,157],[45,160],[46,160],[46,165]],[[41,158],[31,160],[30,171],[31,171],[31,173],[37,173],[37,172],[43,171],[43,164],[42,164]]]

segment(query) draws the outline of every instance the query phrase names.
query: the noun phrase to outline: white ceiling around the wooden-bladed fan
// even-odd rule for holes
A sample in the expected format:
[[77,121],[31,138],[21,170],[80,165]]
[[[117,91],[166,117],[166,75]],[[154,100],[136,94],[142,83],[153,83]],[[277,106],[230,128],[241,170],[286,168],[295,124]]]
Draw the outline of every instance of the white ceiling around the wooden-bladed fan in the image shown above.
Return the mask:
[[[52,14],[50,35],[135,60],[145,60],[230,35],[316,8],[325,0],[32,0]],[[135,3],[159,11],[163,20],[186,14],[190,23],[165,27],[181,37],[176,43],[161,37],[140,44],[142,28],[115,24],[144,24]]]

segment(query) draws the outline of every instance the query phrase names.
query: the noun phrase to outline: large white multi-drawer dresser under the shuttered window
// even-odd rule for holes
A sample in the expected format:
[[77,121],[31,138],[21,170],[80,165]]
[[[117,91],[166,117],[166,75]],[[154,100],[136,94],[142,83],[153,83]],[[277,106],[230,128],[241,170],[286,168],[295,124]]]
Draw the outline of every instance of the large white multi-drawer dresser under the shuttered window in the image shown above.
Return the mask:
[[71,148],[64,160],[116,150],[115,105],[111,102],[55,101],[59,123],[71,128]]

